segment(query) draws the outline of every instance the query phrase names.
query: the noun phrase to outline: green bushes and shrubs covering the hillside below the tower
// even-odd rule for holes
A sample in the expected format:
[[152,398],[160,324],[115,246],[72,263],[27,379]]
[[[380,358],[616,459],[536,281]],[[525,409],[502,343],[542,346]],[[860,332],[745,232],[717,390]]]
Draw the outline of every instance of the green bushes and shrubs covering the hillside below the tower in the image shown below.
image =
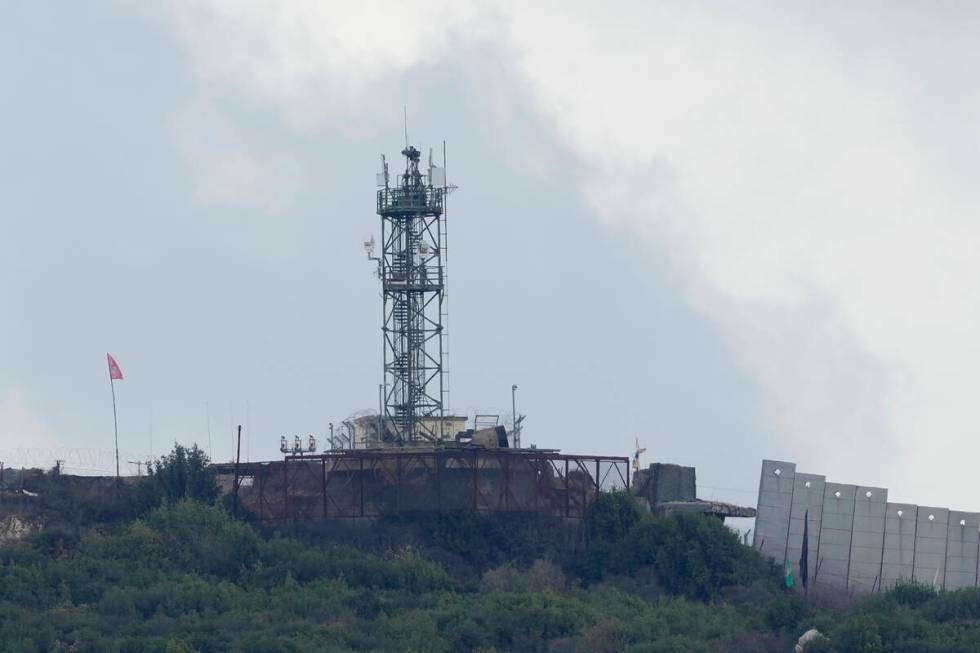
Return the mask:
[[0,550],[0,649],[785,652],[815,627],[810,653],[980,650],[978,590],[814,607],[720,521],[654,519],[624,494],[600,497],[576,547],[462,514],[370,553],[259,533],[201,460],[175,450],[120,493],[127,515],[92,511],[106,519],[77,538]]

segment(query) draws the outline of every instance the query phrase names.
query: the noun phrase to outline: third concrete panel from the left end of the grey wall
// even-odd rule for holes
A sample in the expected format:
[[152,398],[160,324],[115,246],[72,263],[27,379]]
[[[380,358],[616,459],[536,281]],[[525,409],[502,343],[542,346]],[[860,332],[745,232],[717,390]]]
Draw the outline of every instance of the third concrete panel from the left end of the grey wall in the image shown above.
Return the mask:
[[815,585],[840,589],[847,587],[856,495],[855,485],[824,485]]

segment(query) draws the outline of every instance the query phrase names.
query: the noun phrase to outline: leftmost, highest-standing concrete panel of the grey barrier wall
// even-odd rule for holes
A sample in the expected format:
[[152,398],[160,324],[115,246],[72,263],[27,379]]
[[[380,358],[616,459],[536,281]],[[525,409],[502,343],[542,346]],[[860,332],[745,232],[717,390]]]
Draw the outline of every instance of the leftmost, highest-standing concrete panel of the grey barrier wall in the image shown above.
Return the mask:
[[759,506],[755,518],[755,548],[782,564],[786,560],[786,538],[793,507],[794,463],[779,460],[762,461],[759,481]]

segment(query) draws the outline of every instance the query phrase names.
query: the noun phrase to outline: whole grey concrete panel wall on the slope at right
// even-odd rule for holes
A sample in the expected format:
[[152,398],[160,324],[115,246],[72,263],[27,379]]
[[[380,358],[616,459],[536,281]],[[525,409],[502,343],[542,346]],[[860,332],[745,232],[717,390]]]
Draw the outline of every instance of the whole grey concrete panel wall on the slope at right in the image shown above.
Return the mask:
[[828,483],[796,464],[764,460],[754,543],[799,578],[804,517],[814,586],[851,593],[899,580],[937,588],[978,586],[980,513],[890,503],[886,488]]

